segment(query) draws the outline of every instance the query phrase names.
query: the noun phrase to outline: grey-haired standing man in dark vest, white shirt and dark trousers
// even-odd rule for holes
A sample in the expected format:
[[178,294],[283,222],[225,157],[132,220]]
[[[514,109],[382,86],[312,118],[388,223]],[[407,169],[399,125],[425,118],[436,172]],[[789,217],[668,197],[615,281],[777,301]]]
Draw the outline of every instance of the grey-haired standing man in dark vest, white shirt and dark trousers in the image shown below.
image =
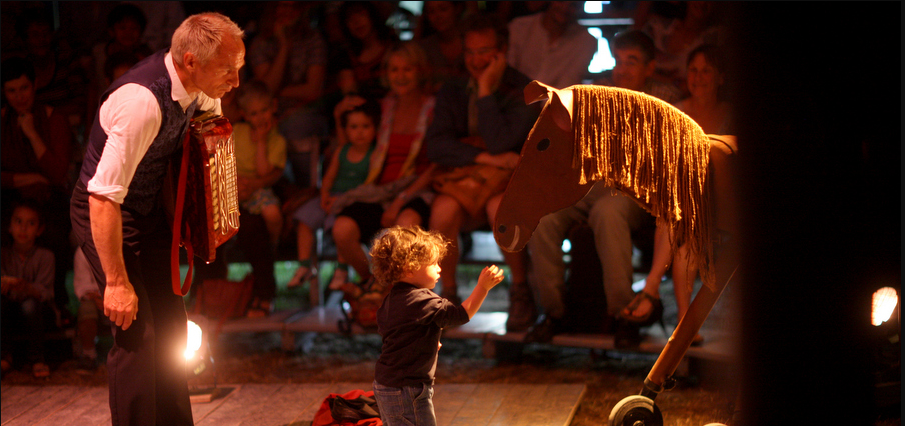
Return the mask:
[[169,51],[136,64],[101,97],[71,216],[112,323],[115,425],[193,424],[185,306],[164,267],[172,230],[161,200],[194,112],[219,113],[220,97],[238,87],[243,36],[223,15],[190,16]]

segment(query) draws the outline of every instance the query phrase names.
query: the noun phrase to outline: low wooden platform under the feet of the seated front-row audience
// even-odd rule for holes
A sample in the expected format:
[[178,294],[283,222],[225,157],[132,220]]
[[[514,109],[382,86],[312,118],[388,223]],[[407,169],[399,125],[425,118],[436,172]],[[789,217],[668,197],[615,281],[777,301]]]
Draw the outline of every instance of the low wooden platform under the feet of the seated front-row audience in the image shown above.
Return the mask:
[[[495,342],[519,343],[525,337],[523,332],[506,333],[506,318],[505,312],[478,312],[467,324],[445,330],[443,337],[479,339],[485,343],[485,355],[492,356],[494,352],[491,346]],[[243,318],[229,321],[223,325],[222,332],[280,332],[283,336],[283,349],[291,350],[296,333],[340,333],[342,330],[338,324],[341,320],[343,320],[343,315],[338,306],[321,306],[310,311],[283,311],[276,312],[267,318]],[[672,329],[667,331],[672,333]],[[358,325],[353,325],[351,328],[352,334],[375,332],[375,330],[366,330]],[[659,354],[669,338],[669,335],[664,333],[659,326],[644,329],[642,334],[644,339],[641,345],[630,352]],[[713,330],[701,330],[701,334],[704,336],[704,344],[700,347],[689,348],[686,357],[721,362],[733,360],[735,350],[730,334]],[[601,350],[616,349],[613,336],[605,334],[561,334],[555,336],[549,344]]]

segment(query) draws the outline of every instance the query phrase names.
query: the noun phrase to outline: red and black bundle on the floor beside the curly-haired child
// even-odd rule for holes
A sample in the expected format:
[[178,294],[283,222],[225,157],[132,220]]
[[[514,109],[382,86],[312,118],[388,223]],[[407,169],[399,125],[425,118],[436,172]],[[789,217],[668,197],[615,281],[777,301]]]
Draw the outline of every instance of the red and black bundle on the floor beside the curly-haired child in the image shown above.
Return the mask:
[[314,413],[311,426],[383,426],[374,391],[331,393]]

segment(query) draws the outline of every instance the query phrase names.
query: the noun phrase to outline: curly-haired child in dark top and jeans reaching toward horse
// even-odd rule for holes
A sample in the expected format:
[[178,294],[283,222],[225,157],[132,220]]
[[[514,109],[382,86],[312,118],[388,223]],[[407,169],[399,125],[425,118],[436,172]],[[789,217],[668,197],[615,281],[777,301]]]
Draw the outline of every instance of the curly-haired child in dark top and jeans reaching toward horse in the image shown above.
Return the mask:
[[431,291],[440,279],[440,259],[449,244],[435,231],[395,226],[371,246],[371,269],[381,285],[392,285],[377,311],[383,339],[374,372],[374,396],[384,425],[436,425],[432,397],[440,332],[467,323],[487,292],[503,280],[496,265],[485,267],[474,291],[456,305]]

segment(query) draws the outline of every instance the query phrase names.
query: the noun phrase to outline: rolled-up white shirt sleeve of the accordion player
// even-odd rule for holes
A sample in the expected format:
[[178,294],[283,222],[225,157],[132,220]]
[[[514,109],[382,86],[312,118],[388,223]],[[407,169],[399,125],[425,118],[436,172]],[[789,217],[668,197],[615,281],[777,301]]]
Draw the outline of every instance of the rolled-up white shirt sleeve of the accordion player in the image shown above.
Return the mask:
[[157,137],[163,115],[150,90],[130,83],[107,97],[98,118],[107,143],[97,171],[88,181],[88,192],[122,204],[138,164]]

